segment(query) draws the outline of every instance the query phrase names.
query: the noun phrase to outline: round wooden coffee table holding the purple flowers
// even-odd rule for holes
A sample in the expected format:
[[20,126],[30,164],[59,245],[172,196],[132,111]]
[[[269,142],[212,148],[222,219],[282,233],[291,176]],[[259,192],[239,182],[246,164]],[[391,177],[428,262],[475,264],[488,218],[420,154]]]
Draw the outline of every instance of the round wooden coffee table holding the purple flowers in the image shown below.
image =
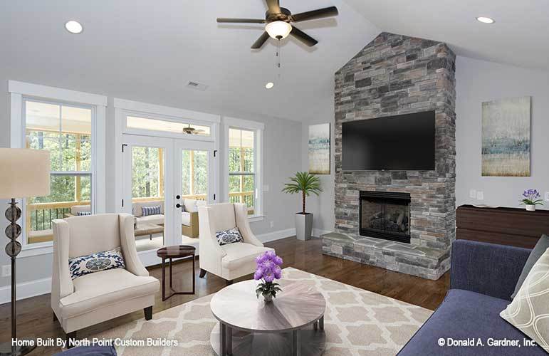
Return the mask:
[[293,282],[265,303],[256,297],[257,284],[236,283],[211,298],[211,313],[219,320],[210,335],[217,355],[320,355],[326,341],[323,295]]

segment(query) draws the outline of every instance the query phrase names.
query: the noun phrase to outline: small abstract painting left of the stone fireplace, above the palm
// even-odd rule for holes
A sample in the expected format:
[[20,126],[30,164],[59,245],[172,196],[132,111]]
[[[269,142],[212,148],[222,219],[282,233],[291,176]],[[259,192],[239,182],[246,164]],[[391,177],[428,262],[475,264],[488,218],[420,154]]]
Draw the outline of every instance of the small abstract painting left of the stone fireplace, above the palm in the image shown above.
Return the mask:
[[309,173],[330,174],[330,124],[309,126]]

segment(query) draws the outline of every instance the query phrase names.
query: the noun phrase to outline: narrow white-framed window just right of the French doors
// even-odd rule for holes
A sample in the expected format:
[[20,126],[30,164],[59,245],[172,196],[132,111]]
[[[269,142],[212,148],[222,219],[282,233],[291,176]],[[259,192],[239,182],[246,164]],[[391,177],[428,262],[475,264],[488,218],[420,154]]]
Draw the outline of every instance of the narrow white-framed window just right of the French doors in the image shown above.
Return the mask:
[[225,117],[226,189],[231,203],[244,203],[249,216],[261,216],[261,137],[258,122]]

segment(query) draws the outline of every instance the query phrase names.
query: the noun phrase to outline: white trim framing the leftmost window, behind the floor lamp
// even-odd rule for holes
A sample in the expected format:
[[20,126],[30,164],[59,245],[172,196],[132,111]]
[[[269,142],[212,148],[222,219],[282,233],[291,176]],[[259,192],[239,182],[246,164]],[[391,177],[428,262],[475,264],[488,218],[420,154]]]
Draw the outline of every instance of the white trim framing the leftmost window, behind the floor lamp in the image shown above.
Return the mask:
[[[32,83],[23,83],[16,80],[8,80],[8,91],[10,93],[10,146],[12,148],[23,148],[24,130],[23,127],[23,98],[42,99],[58,101],[61,103],[89,105],[95,112],[95,120],[92,122],[92,200],[95,213],[105,212],[105,117],[107,107],[107,97],[104,95],[90,94],[68,90],[62,88],[53,88],[46,85]],[[19,204],[23,201],[19,199]],[[24,209],[23,209],[24,210]],[[24,225],[23,211],[22,221]],[[23,241],[26,241],[24,234],[26,229],[23,226]],[[28,256],[38,256],[52,253],[52,242],[43,242],[40,244],[23,244],[19,258]]]

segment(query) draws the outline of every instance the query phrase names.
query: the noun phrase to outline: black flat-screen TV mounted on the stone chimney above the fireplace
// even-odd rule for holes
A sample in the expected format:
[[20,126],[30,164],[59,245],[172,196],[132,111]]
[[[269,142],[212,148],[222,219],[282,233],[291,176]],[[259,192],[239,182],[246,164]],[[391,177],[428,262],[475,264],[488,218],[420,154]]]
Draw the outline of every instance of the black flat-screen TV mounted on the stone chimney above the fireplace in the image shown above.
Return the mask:
[[434,170],[434,111],[343,122],[344,171]]

